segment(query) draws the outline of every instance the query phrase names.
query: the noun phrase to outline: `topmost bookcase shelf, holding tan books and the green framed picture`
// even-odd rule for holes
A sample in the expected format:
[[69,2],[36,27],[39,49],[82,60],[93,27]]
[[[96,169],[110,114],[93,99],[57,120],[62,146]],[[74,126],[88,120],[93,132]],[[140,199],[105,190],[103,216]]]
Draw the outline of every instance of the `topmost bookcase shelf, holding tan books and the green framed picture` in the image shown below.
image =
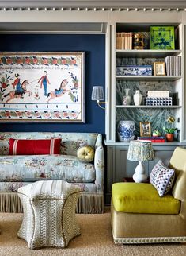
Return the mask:
[[165,58],[177,56],[181,50],[116,50],[116,57],[125,58]]

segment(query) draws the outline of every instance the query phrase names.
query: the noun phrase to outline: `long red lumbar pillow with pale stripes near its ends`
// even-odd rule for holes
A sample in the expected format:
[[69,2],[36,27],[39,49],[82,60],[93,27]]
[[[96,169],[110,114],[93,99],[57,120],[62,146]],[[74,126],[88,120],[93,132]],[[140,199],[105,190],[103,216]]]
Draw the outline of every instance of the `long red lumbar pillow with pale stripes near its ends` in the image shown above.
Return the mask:
[[9,139],[10,155],[52,155],[60,153],[60,138],[47,140]]

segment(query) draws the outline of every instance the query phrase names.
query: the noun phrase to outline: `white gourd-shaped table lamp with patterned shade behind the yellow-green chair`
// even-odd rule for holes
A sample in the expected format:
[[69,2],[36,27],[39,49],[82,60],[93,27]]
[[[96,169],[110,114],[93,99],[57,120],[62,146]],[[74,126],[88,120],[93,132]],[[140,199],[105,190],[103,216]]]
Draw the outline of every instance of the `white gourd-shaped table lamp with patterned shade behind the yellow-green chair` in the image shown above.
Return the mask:
[[143,161],[154,160],[154,149],[150,141],[131,141],[128,148],[127,159],[131,161],[139,161],[139,165],[135,168],[133,180],[139,183],[147,179]]

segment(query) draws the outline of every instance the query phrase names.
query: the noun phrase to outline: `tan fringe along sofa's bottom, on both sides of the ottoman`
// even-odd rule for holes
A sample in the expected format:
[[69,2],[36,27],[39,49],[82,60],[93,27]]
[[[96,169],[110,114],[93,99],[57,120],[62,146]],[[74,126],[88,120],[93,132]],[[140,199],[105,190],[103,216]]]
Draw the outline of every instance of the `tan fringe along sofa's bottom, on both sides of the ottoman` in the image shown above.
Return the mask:
[[[23,212],[17,192],[0,192],[1,212]],[[76,213],[103,213],[104,194],[82,193],[78,199]]]

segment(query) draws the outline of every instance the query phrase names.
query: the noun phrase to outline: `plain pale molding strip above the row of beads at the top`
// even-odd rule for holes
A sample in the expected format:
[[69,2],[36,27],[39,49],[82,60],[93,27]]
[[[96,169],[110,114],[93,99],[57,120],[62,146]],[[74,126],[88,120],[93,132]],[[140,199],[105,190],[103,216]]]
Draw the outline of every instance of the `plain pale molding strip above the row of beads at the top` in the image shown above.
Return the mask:
[[135,1],[109,1],[109,0],[0,0],[0,8],[186,8],[185,0],[135,0]]

